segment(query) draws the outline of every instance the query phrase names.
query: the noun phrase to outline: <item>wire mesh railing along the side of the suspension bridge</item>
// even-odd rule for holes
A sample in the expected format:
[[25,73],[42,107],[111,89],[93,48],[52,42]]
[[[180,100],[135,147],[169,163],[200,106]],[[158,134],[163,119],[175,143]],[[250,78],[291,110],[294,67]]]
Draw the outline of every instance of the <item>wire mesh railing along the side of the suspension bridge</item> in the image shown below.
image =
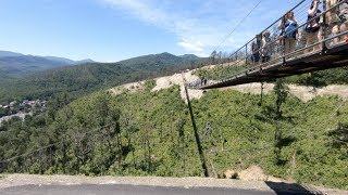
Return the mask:
[[323,53],[327,48],[339,46],[345,42],[344,37],[346,39],[348,37],[348,24],[346,24],[345,30],[339,31],[339,26],[345,23],[343,20],[348,20],[340,18],[339,15],[343,12],[346,13],[344,17],[348,17],[348,1],[337,0],[333,4],[331,3],[333,1],[300,1],[285,15],[217,65],[233,67],[229,69],[238,69],[239,72],[231,73],[226,68],[226,72],[219,73],[219,79],[214,79],[215,81],[196,81],[188,86],[201,88],[224,82],[241,74],[286,64],[308,54]]

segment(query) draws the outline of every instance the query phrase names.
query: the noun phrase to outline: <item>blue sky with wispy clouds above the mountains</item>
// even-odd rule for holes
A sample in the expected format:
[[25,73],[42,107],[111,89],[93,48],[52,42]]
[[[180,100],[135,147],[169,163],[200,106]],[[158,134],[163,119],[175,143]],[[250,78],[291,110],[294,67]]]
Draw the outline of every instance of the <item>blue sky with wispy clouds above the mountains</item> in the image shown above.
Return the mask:
[[[223,43],[235,50],[300,0],[262,0]],[[116,62],[209,55],[259,0],[0,0],[0,50]]]

